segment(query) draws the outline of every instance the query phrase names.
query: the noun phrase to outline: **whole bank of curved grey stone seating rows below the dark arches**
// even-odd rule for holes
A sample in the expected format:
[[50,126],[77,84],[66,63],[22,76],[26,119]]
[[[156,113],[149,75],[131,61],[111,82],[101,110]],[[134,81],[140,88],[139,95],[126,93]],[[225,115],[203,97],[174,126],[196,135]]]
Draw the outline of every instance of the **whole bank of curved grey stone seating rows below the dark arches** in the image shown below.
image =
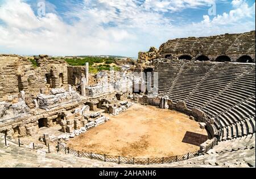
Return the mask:
[[[160,83],[164,83],[162,86],[168,87],[168,96],[172,101],[185,101],[188,108],[203,109],[210,117],[216,118],[216,129],[222,129],[221,140],[255,133],[255,65],[183,64],[180,71],[176,69],[179,74],[171,77],[171,83],[159,76]],[[157,71],[162,71],[161,68],[159,66]]]

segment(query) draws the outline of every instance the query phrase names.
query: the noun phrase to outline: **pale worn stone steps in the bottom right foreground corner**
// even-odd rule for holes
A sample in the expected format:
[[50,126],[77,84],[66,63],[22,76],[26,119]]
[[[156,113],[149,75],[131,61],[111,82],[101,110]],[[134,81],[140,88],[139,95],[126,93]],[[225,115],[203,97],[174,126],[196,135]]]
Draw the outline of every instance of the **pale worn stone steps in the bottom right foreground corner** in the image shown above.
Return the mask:
[[[150,165],[157,167],[158,165]],[[219,142],[207,154],[161,167],[255,167],[255,134]]]

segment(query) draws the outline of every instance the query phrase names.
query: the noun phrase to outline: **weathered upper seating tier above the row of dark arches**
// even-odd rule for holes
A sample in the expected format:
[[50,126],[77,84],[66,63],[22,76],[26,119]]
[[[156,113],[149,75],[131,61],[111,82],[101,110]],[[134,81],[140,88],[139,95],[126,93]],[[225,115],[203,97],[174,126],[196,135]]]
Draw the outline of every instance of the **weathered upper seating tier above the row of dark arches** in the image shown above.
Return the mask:
[[255,62],[255,31],[174,39],[159,48],[160,58],[179,59],[182,56],[189,56],[194,60],[206,56],[210,61],[216,61],[220,56],[228,56],[231,62],[238,62],[240,57],[249,56]]

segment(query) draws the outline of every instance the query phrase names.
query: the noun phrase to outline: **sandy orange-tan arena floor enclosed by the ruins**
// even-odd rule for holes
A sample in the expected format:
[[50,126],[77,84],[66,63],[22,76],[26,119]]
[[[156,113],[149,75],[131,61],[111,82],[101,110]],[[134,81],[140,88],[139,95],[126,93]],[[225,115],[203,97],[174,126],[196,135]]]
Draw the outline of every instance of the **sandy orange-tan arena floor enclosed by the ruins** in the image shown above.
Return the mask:
[[134,104],[96,128],[69,140],[79,151],[127,157],[165,157],[187,154],[199,147],[181,142],[186,131],[207,135],[185,114]]

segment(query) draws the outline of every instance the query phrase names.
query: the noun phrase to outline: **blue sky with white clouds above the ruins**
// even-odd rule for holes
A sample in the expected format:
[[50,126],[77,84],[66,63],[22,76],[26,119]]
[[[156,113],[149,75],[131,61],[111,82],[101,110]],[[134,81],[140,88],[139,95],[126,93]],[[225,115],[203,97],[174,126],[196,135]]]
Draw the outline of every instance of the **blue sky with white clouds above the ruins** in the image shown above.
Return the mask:
[[137,57],[169,39],[252,30],[255,0],[0,0],[0,53]]

